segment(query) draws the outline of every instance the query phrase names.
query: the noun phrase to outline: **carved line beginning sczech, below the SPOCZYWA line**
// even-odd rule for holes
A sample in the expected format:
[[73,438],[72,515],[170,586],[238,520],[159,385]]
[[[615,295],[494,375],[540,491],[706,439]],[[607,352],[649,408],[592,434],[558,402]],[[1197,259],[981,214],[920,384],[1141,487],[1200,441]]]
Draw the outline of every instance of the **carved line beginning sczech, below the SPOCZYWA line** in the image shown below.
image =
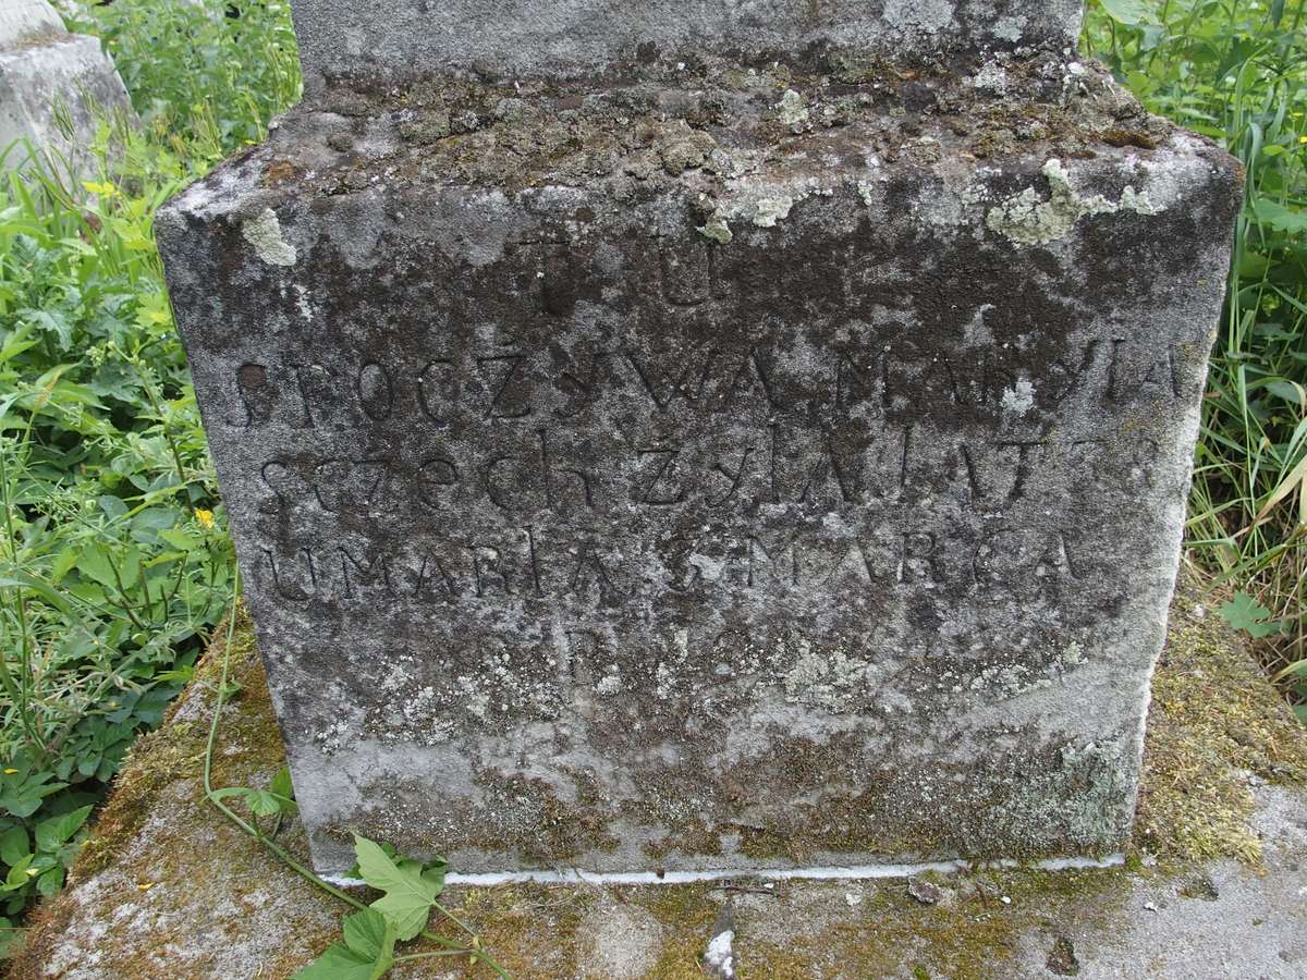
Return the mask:
[[566,435],[540,429],[494,449],[463,448],[461,459],[452,444],[412,457],[295,453],[261,464],[260,478],[284,506],[328,514],[438,514],[490,503],[505,516],[603,516],[627,507],[728,515],[789,504],[856,515],[923,495],[1014,504],[1027,498],[1036,473],[1067,483],[1068,493],[1138,493],[1154,487],[1158,452],[1148,439],[1121,460],[1106,439],[941,440],[912,426],[886,426],[853,442],[776,423],[634,448],[620,440],[578,448]]

